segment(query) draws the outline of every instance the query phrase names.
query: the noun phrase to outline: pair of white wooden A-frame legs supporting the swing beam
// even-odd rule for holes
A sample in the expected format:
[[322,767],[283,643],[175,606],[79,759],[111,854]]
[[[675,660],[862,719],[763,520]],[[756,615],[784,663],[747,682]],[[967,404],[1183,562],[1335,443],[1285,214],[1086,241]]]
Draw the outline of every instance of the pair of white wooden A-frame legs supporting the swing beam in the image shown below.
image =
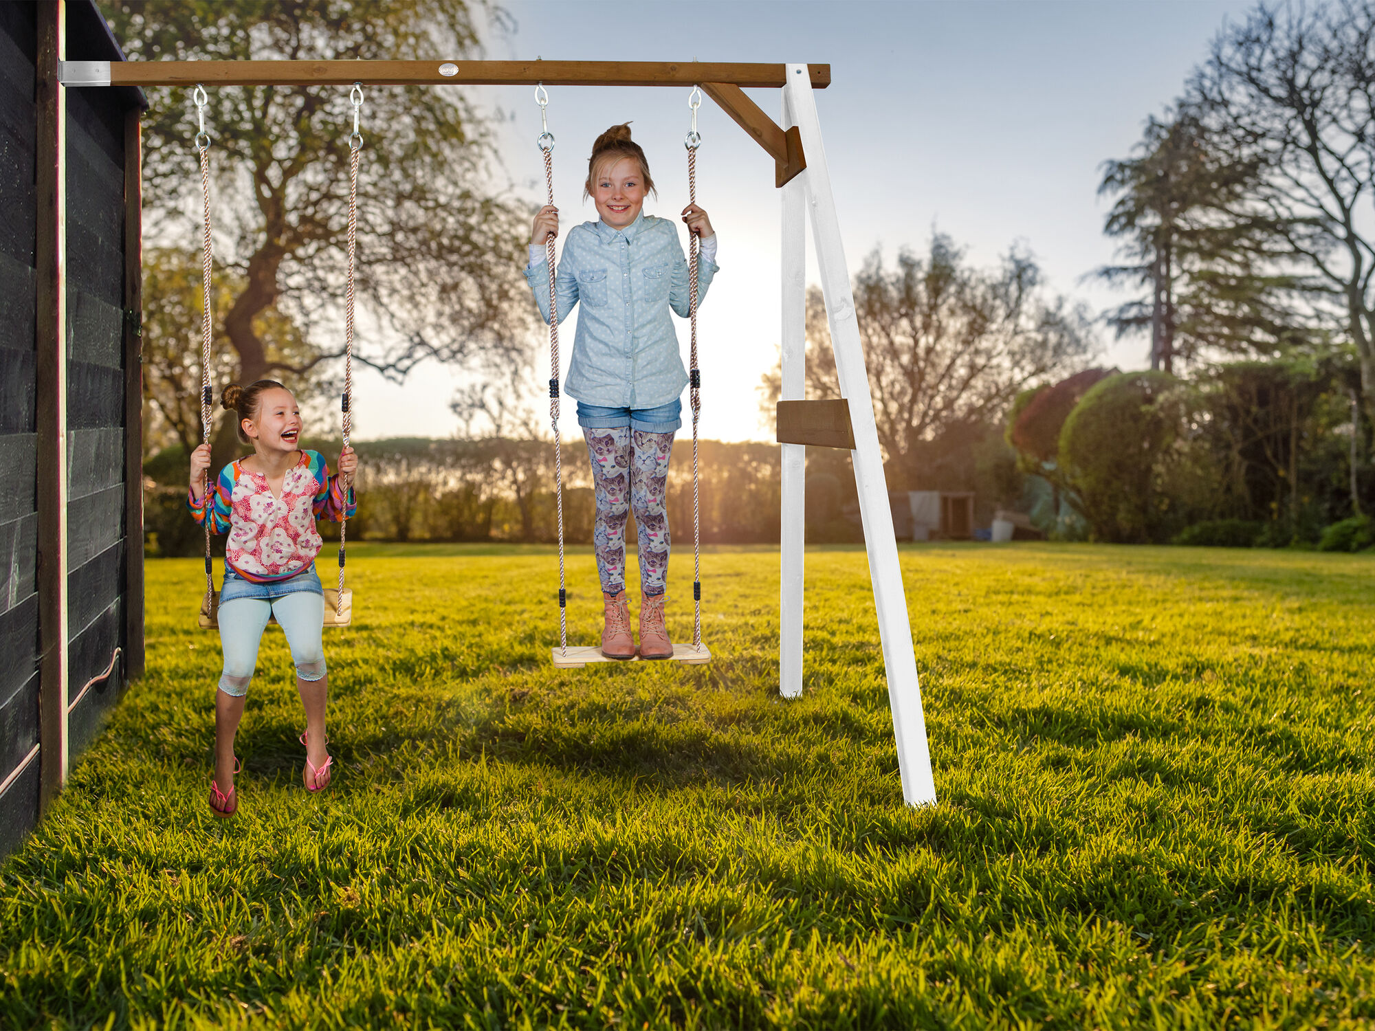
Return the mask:
[[[830,191],[830,173],[821,146],[817,102],[806,65],[788,65],[782,100],[784,128],[798,126],[807,168],[782,187],[782,399],[802,400],[804,392],[804,212],[811,212],[811,232],[821,271],[821,291],[826,300],[830,344],[836,355],[840,393],[850,404],[855,448],[850,459],[859,492],[869,576],[879,613],[883,665],[888,676],[888,705],[898,744],[898,771],[902,797],[909,806],[934,804],[935,781],[927,748],[927,724],[921,713],[917,660],[912,652],[908,601],[898,568],[898,542],[892,532],[888,485],[883,476],[879,430],[869,396],[859,326],[855,322],[850,269],[840,239],[840,220]],[[803,476],[804,448],[782,445],[782,588],[778,682],[784,696],[802,694],[802,612],[803,612]]]

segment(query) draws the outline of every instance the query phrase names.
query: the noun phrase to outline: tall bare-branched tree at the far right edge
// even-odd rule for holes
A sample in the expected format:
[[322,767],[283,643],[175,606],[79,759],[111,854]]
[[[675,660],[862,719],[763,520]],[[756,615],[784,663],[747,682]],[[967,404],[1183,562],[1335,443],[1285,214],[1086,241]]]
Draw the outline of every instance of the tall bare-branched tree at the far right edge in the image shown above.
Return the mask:
[[1375,7],[1258,7],[1225,29],[1187,103],[1214,146],[1254,164],[1246,208],[1273,227],[1261,257],[1295,276],[1356,351],[1375,414]]

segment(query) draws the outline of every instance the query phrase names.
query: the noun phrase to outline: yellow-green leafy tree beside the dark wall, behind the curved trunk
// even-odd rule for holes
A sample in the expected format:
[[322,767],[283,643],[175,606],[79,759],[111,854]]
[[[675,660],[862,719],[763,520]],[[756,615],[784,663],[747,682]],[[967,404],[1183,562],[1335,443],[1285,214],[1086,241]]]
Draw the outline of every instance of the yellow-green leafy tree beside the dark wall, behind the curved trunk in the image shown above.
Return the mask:
[[[220,319],[210,346],[210,382],[234,378],[235,362],[227,346],[223,313],[243,290],[234,269],[217,268],[212,280],[212,305]],[[148,418],[144,454],[180,444],[183,454],[201,443],[201,260],[182,247],[150,247],[143,252],[143,399]],[[300,327],[275,307],[258,312],[253,331],[268,359],[283,368],[309,370],[320,352]],[[309,396],[304,377],[286,377],[298,396]]]

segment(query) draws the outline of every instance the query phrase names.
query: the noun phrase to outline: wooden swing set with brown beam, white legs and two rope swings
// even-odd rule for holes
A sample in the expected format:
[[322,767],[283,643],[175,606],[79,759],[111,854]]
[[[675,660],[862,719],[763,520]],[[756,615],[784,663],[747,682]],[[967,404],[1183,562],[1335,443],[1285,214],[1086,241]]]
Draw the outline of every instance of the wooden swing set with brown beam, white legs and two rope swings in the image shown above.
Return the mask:
[[[536,88],[543,131],[538,139],[544,162],[549,202],[553,203],[553,147],[549,132],[549,87],[617,85],[617,87],[690,87],[693,89],[692,131],[688,148],[689,195],[696,202],[696,158],[701,136],[697,133],[697,107],[701,95],[710,96],[770,157],[774,158],[774,186],[782,198],[782,400],[778,403],[777,440],[782,444],[782,511],[781,511],[781,591],[780,591],[780,693],[802,693],[803,671],[803,562],[804,524],[803,487],[806,447],[842,447],[850,450],[859,511],[864,524],[874,608],[883,645],[888,701],[892,712],[898,767],[903,799],[908,804],[934,804],[935,784],[927,748],[921,691],[917,682],[912,627],[908,621],[906,597],[898,565],[896,539],[888,507],[883,458],[869,395],[868,374],[854,296],[840,236],[835,195],[821,140],[814,89],[830,84],[829,65],[776,63],[667,63],[667,62],[594,62],[594,60],[154,60],[104,62],[60,60],[62,87],[153,87],[180,85],[195,88],[201,113],[197,148],[201,161],[204,221],[204,293],[202,316],[202,390],[201,421],[206,439],[210,433],[210,206],[209,159],[210,139],[204,113],[205,88],[214,85],[319,85],[348,87],[353,98],[353,135],[351,147],[348,286],[345,300],[345,386],[341,400],[342,434],[348,444],[351,429],[352,346],[353,346],[353,256],[356,234],[358,166],[363,139],[359,118],[363,84],[368,85],[527,85]],[[777,124],[744,89],[780,89],[782,125]],[[60,172],[59,172],[60,175]],[[808,216],[810,212],[810,216]],[[804,399],[804,296],[806,296],[806,224],[810,220],[821,287],[830,326],[836,373],[842,400]],[[701,641],[701,557],[698,513],[697,430],[700,417],[701,371],[697,362],[697,254],[696,235],[690,239],[689,289],[692,319],[690,403],[693,415],[693,642],[675,645],[674,658],[685,663],[708,663],[711,653]],[[546,242],[550,294],[554,291],[554,241]],[[550,422],[556,445],[556,494],[558,509],[558,621],[560,645],[551,652],[557,667],[580,667],[604,661],[595,647],[569,647],[566,623],[566,588],[564,581],[562,463],[558,432],[558,309],[550,305]],[[209,483],[206,484],[209,489]],[[348,625],[352,619],[352,591],[344,584],[345,526],[341,524],[338,551],[338,587],[326,591],[326,625]],[[201,608],[201,625],[213,627],[217,595],[206,535],[206,594]]]

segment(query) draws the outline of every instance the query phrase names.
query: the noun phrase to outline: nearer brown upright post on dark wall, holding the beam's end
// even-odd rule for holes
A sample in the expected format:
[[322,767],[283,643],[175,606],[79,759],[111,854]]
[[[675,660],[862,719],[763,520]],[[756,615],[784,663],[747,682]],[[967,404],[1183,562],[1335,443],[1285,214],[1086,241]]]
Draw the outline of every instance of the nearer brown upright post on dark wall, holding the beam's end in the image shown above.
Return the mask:
[[66,103],[58,82],[66,36],[65,0],[36,4],[38,40],[34,107],[37,121],[37,320],[34,329],[38,430],[38,808],[66,779],[67,726],[67,377],[66,377],[66,201],[63,151]]

